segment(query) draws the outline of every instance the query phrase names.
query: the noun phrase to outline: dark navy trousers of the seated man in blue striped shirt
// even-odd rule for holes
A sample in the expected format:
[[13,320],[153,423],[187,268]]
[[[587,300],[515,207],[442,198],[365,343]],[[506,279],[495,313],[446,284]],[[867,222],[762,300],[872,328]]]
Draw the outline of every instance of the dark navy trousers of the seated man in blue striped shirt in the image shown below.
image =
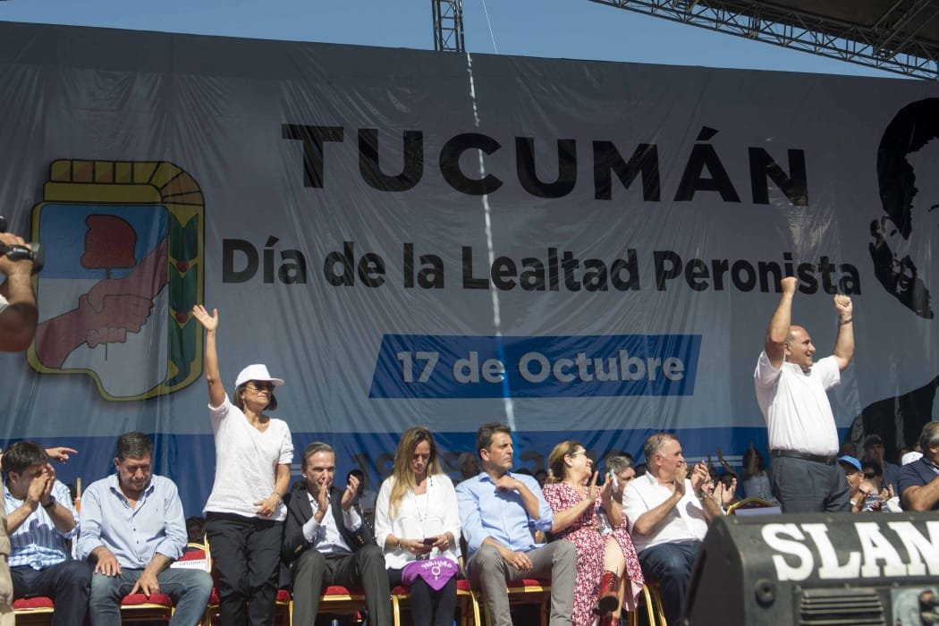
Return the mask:
[[13,597],[46,596],[55,604],[53,626],[80,626],[88,613],[88,589],[91,588],[91,564],[67,560],[44,570],[28,565],[11,567]]

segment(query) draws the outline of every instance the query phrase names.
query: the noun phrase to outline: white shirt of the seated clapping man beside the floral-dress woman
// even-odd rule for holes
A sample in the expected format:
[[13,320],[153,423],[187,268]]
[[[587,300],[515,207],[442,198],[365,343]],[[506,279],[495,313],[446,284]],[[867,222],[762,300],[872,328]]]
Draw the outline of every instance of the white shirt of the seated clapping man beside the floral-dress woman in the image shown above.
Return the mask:
[[629,481],[626,486],[623,493],[623,514],[629,520],[629,533],[633,537],[637,553],[660,543],[700,542],[707,534],[704,510],[688,479],[685,479],[685,496],[682,496],[669,516],[653,532],[644,536],[633,532],[633,525],[639,516],[668,500],[672,493],[648,472]]

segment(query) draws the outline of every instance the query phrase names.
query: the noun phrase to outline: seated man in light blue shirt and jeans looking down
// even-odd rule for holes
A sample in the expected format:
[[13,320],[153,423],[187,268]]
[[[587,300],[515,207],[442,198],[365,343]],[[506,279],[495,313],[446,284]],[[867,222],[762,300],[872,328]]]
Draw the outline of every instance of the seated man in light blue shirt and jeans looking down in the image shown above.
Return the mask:
[[153,443],[143,433],[117,439],[115,474],[82,495],[79,558],[95,563],[88,616],[91,626],[121,623],[121,599],[164,593],[176,603],[170,626],[195,626],[212,591],[208,572],[171,569],[186,547],[186,523],[176,483],[151,473]]

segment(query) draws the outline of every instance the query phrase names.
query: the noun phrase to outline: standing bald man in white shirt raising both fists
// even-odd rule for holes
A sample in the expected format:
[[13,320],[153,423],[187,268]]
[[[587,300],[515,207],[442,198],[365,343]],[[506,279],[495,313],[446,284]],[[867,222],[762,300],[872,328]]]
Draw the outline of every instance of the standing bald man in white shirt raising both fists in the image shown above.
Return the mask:
[[854,358],[851,298],[835,296],[838,336],[834,353],[813,361],[808,330],[792,325],[793,276],[766,330],[753,381],[769,429],[773,495],[783,512],[849,511],[848,483],[838,465],[838,430],[826,391],[839,384]]

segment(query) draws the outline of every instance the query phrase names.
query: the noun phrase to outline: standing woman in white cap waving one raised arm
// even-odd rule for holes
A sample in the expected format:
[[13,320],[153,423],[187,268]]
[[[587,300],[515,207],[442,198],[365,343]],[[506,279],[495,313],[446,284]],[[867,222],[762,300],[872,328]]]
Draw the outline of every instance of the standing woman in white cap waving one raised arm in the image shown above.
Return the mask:
[[217,573],[219,609],[225,626],[269,624],[274,614],[281,539],[293,442],[277,408],[274,378],[266,365],[241,370],[229,400],[219,374],[216,332],[219,312],[192,307],[206,328],[208,413],[215,435],[215,481],[206,502],[206,532]]

